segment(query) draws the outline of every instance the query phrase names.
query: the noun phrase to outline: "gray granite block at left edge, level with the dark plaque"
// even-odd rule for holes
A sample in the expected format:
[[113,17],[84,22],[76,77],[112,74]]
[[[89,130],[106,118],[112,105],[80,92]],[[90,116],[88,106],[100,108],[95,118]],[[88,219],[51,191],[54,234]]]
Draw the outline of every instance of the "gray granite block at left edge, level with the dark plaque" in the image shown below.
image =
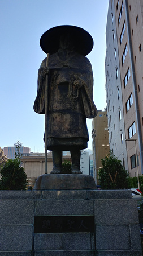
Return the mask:
[[0,200],[0,225],[33,224],[33,200]]

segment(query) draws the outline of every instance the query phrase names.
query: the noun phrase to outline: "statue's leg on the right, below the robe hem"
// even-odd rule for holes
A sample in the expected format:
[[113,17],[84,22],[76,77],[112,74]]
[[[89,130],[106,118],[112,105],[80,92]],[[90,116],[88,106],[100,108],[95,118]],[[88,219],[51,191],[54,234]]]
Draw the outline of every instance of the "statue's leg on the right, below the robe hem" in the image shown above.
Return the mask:
[[80,171],[80,149],[73,147],[71,149],[71,159],[72,159],[72,167],[71,172],[72,174],[82,174]]

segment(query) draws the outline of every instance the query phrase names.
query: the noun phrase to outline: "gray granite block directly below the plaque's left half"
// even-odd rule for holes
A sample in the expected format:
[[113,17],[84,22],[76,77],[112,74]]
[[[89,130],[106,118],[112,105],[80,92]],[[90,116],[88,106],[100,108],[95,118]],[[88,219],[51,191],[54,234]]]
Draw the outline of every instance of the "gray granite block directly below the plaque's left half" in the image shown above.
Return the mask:
[[34,250],[63,250],[64,235],[63,234],[35,234]]

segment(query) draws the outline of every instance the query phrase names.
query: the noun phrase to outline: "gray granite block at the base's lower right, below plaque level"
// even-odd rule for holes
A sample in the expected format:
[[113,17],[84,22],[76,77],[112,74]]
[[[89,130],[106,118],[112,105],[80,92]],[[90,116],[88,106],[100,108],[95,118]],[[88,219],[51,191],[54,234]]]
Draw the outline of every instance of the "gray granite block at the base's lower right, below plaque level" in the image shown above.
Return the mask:
[[96,225],[97,250],[131,250],[129,225]]

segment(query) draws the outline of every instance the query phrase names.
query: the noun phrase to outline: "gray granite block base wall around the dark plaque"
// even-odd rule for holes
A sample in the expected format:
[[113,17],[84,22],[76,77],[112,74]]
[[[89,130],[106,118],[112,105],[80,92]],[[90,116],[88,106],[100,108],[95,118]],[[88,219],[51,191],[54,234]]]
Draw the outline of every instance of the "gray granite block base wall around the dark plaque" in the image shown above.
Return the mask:
[[[34,233],[38,216],[94,216],[94,232]],[[137,203],[126,190],[0,191],[0,255],[142,255]]]

